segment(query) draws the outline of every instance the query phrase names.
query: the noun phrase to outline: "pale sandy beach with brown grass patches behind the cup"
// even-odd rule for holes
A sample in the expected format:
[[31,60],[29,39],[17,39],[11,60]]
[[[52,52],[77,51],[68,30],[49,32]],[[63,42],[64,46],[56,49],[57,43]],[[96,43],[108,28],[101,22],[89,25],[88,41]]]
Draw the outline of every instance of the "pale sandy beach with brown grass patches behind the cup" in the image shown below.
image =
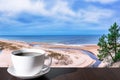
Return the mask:
[[[7,45],[7,46],[6,46]],[[12,65],[11,52],[22,48],[36,48],[43,49],[46,54],[52,57],[51,67],[90,67],[96,60],[92,59],[89,55],[84,54],[81,50],[91,52],[97,57],[99,48],[95,44],[88,45],[63,45],[63,44],[48,44],[38,42],[22,42],[0,40],[0,67],[8,67]],[[12,47],[12,48],[11,48]],[[103,64],[98,67],[103,66]]]

